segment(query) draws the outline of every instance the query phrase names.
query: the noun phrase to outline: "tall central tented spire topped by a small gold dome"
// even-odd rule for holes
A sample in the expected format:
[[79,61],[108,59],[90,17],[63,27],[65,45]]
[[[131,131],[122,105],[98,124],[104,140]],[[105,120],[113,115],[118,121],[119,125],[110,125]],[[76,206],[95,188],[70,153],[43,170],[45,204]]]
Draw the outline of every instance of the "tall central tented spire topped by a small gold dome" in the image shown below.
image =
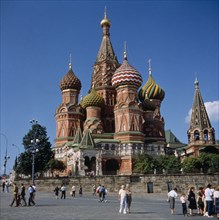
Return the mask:
[[102,42],[93,67],[91,87],[94,87],[104,98],[105,105],[101,110],[104,132],[114,132],[113,108],[116,102],[116,90],[112,86],[112,76],[119,67],[119,63],[110,42],[111,23],[107,18],[106,9],[100,25],[103,29]]

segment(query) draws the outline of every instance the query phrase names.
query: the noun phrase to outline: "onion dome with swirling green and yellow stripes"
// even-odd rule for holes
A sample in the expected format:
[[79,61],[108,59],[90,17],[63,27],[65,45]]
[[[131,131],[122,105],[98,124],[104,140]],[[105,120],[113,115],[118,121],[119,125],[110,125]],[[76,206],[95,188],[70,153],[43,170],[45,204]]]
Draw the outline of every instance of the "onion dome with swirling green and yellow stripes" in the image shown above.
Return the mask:
[[164,99],[165,92],[158,86],[152,77],[152,69],[149,66],[149,79],[146,84],[140,89],[138,97],[143,103],[147,99],[157,99],[162,101]]

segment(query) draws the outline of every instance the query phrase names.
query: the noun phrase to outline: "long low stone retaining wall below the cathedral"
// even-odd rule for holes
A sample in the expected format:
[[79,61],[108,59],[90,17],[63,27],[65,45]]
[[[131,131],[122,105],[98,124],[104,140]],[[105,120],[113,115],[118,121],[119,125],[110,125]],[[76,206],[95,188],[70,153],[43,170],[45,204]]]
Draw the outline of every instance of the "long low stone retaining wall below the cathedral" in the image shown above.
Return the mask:
[[[16,181],[19,185],[23,182],[26,186],[31,181]],[[117,193],[121,185],[130,184],[133,193],[166,193],[168,188],[178,188],[178,192],[187,192],[190,186],[196,190],[205,187],[208,183],[213,186],[219,185],[219,174],[187,174],[187,175],[136,175],[136,176],[98,176],[98,177],[66,177],[66,178],[44,178],[35,180],[37,190],[52,192],[55,186],[66,184],[67,191],[72,185],[78,191],[82,185],[84,192],[92,192],[92,186],[104,185],[109,192]]]

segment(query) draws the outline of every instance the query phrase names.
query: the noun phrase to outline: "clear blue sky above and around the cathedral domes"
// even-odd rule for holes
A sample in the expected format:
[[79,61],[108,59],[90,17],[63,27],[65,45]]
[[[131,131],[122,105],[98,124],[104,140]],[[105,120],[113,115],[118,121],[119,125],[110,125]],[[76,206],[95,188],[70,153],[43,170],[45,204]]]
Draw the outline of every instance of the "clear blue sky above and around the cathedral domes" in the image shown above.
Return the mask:
[[30,119],[47,128],[54,144],[59,82],[70,53],[81,94],[87,94],[105,6],[119,62],[126,41],[129,63],[145,84],[152,59],[153,78],[166,93],[161,106],[165,129],[187,143],[197,76],[219,139],[218,1],[1,1],[1,172],[5,136],[9,172],[23,151]]

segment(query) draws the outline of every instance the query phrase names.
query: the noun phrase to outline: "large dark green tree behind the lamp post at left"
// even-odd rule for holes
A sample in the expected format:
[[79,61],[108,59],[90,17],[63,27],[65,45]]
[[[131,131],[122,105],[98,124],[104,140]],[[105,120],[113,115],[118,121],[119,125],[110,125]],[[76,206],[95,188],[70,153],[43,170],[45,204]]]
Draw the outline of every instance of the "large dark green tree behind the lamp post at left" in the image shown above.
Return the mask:
[[32,140],[38,139],[35,152],[35,173],[42,174],[47,169],[47,163],[51,159],[51,143],[47,137],[45,127],[40,124],[33,124],[29,132],[23,137],[23,146],[25,151],[18,158],[16,172],[18,174],[31,175],[33,161],[33,143]]

